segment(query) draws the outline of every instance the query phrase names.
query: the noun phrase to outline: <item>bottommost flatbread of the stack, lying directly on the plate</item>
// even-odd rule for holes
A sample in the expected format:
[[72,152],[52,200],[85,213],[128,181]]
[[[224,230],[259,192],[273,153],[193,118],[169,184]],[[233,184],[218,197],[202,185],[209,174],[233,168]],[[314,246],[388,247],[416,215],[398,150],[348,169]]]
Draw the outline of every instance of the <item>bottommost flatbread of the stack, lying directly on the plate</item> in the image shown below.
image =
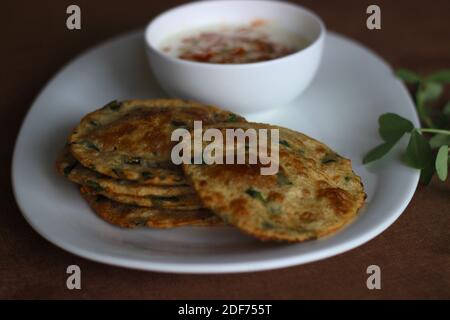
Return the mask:
[[173,228],[181,226],[221,226],[223,221],[209,210],[162,210],[118,203],[80,189],[83,198],[103,220],[122,228]]

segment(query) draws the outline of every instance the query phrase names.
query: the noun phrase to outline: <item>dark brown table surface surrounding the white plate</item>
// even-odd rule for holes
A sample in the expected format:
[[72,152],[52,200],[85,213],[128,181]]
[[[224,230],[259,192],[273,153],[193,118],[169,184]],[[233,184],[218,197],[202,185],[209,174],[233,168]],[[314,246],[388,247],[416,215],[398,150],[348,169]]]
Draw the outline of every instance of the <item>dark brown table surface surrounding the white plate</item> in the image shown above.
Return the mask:
[[[66,8],[82,11],[82,30],[65,27]],[[22,217],[11,190],[11,154],[20,124],[50,77],[74,56],[142,27],[177,1],[3,1],[0,5],[1,298],[306,299],[450,298],[450,184],[419,186],[387,231],[350,252],[307,265],[228,275],[177,275],[106,266],[65,252]],[[450,1],[299,1],[328,28],[352,37],[394,67],[450,67]],[[365,27],[380,5],[382,30]],[[376,119],[374,119],[376,121]],[[82,269],[82,290],[66,289],[66,268]],[[366,288],[377,264],[382,289]]]

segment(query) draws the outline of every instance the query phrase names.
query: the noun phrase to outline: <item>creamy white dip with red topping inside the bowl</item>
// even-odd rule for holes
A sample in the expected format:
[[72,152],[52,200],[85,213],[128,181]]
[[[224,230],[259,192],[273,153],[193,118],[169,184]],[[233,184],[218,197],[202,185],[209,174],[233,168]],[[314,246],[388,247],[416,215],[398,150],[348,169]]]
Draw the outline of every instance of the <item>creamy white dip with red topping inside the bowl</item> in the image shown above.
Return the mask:
[[[273,60],[298,50],[294,45],[275,41],[272,33],[261,21],[243,27],[199,32],[181,38],[176,56],[197,62],[238,64]],[[166,47],[164,51],[170,50]]]

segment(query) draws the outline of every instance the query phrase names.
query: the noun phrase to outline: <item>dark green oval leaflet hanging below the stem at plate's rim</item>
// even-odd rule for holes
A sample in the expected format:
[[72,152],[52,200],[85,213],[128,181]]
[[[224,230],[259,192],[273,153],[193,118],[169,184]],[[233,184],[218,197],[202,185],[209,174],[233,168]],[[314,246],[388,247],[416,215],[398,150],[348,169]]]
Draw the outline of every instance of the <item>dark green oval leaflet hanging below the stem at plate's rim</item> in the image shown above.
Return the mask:
[[411,133],[405,156],[406,163],[416,169],[423,169],[432,161],[428,140],[416,130]]

